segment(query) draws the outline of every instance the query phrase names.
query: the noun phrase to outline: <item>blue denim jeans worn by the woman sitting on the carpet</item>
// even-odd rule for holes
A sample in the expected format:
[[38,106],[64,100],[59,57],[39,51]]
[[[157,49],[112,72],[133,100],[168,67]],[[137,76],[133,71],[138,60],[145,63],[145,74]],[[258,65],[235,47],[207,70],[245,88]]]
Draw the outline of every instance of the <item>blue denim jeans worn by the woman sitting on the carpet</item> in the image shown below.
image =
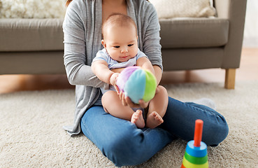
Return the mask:
[[180,102],[169,97],[164,123],[155,129],[138,129],[127,120],[115,118],[102,106],[92,106],[81,119],[81,130],[117,167],[138,165],[174,139],[194,138],[196,119],[203,120],[203,138],[208,146],[217,146],[229,132],[224,117],[207,106]]

